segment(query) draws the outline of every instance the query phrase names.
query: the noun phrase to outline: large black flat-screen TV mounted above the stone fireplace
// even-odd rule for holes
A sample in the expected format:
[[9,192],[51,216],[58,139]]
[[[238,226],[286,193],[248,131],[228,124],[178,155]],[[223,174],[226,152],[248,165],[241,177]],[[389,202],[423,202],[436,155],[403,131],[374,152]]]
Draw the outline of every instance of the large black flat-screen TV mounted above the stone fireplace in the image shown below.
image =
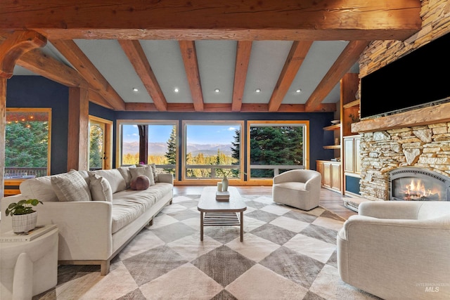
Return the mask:
[[450,100],[450,33],[361,78],[361,119]]

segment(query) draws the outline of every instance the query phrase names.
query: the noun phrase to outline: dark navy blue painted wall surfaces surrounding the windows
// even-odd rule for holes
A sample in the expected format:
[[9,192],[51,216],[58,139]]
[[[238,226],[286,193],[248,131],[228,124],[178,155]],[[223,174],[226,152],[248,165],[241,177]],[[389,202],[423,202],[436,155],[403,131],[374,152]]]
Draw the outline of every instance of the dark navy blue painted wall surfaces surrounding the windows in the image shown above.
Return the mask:
[[[15,76],[8,79],[7,107],[51,107],[51,174],[67,171],[68,158],[68,95],[69,89],[39,76]],[[115,122],[117,119],[169,119],[179,120],[309,120],[309,167],[316,169],[317,159],[330,159],[333,150],[324,150],[323,145],[333,145],[333,132],[323,131],[330,125],[333,112],[116,112],[100,105],[89,103],[89,114]],[[245,123],[246,126],[246,123]],[[114,129],[113,153],[115,153],[116,130]],[[180,131],[180,133],[182,133]],[[246,141],[246,137],[244,136]],[[113,157],[115,162],[115,157]]]

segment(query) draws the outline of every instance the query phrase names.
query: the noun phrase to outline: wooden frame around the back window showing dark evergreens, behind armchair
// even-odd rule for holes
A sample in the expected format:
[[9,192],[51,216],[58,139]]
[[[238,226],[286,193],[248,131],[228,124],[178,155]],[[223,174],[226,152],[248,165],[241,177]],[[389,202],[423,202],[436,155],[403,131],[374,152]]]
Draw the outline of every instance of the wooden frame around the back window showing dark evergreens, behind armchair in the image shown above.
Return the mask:
[[252,126],[303,126],[304,134],[303,134],[303,162],[304,169],[309,169],[309,120],[284,120],[284,121],[266,121],[266,120],[249,120],[247,121],[247,182],[251,182],[252,184],[267,184],[269,181],[272,181],[273,178],[252,178],[251,177],[251,169],[250,169],[250,128]]

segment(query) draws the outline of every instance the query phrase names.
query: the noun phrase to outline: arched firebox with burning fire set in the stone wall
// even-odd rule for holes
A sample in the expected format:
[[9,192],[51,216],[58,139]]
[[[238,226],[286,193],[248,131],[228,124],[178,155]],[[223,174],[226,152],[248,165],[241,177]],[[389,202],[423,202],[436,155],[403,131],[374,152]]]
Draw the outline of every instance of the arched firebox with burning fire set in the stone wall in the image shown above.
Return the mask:
[[450,178],[418,167],[401,167],[389,173],[390,200],[450,201]]

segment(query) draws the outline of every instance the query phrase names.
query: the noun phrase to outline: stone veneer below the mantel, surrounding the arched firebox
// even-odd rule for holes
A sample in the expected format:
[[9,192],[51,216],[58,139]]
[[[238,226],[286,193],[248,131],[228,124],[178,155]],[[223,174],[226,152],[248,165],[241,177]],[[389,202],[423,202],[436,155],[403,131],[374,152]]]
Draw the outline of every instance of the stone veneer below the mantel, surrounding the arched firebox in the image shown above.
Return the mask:
[[361,137],[361,195],[389,200],[388,173],[405,166],[450,176],[450,123],[364,133]]

